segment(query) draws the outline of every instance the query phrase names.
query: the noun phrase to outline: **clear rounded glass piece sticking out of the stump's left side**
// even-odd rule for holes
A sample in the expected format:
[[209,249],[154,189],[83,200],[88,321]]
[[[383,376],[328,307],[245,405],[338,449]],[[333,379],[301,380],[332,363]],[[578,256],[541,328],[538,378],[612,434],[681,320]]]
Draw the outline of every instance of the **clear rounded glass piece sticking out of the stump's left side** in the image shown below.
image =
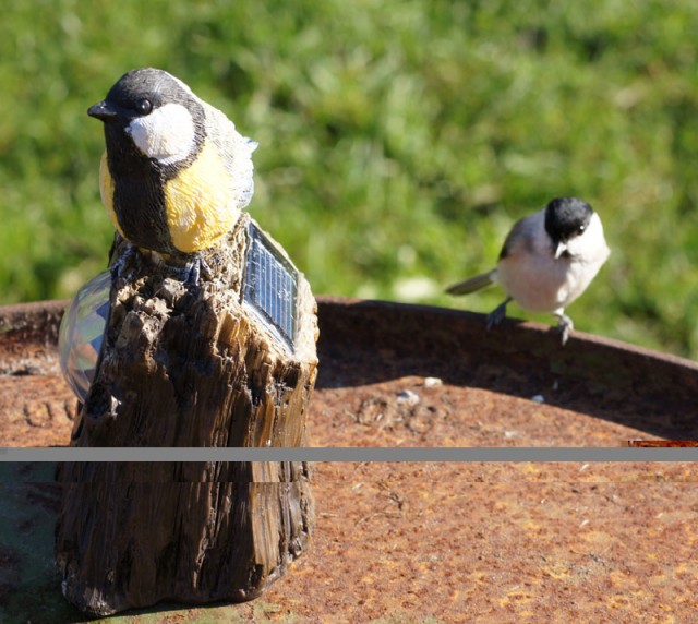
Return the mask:
[[61,370],[81,401],[97,371],[109,315],[111,274],[104,271],[85,284],[67,308],[58,337]]

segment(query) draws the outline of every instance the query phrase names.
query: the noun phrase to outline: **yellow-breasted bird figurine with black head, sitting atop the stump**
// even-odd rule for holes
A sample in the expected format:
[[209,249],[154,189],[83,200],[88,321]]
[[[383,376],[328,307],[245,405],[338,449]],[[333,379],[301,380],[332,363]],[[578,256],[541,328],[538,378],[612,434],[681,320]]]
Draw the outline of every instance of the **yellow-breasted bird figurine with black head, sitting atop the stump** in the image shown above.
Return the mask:
[[254,193],[252,152],[220,110],[169,73],[136,69],[87,113],[104,122],[101,201],[119,235],[166,259],[217,244]]

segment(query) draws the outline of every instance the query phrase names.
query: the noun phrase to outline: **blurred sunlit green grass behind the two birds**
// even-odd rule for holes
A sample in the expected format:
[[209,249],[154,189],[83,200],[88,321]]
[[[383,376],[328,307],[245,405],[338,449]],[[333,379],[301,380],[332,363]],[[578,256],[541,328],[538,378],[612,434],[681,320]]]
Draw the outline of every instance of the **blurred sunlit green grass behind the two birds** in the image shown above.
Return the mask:
[[693,0],[5,0],[0,303],[105,266],[85,111],[153,65],[260,142],[250,212],[315,293],[490,311],[443,288],[578,195],[613,254],[576,327],[698,358],[696,33]]

